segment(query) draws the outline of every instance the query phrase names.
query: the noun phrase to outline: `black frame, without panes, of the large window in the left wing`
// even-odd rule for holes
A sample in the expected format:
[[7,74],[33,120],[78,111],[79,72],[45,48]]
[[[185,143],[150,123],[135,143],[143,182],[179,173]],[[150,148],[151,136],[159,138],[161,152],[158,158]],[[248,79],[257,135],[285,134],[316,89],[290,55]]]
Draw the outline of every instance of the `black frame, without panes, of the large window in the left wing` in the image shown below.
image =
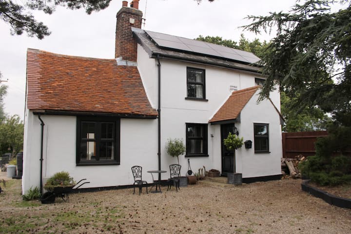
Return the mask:
[[[95,128],[98,130],[96,133],[95,141],[96,148],[98,149],[101,142],[111,142],[110,139],[101,138],[101,123],[114,123],[113,129],[113,142],[114,142],[114,159],[102,160],[81,160],[80,150],[82,141],[90,141],[89,139],[82,138],[81,126],[82,122],[96,123]],[[120,164],[120,118],[118,117],[77,117],[77,141],[76,141],[76,165],[77,166],[97,166],[97,165],[119,165]],[[99,151],[97,150],[97,158],[99,159]]]

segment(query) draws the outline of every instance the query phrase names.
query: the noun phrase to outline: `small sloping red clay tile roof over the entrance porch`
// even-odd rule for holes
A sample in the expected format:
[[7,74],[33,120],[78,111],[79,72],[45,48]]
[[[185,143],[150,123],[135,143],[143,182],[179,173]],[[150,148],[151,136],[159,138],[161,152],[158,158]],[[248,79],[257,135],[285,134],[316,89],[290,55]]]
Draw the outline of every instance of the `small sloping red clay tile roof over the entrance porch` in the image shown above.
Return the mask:
[[234,91],[209,122],[236,119],[259,87],[260,86],[257,85],[251,88]]

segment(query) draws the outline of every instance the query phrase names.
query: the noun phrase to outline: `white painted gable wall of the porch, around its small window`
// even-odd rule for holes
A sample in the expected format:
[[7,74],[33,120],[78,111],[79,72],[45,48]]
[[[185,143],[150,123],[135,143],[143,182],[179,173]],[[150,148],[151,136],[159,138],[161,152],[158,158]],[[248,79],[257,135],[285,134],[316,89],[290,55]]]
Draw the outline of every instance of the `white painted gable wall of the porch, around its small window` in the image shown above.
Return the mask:
[[[269,100],[257,103],[258,92],[247,103],[241,112],[241,122],[235,123],[241,137],[253,141],[252,149],[245,146],[236,150],[236,171],[244,178],[272,176],[281,174],[280,158],[282,157],[282,138],[280,118]],[[254,153],[254,123],[269,124],[270,153]]]

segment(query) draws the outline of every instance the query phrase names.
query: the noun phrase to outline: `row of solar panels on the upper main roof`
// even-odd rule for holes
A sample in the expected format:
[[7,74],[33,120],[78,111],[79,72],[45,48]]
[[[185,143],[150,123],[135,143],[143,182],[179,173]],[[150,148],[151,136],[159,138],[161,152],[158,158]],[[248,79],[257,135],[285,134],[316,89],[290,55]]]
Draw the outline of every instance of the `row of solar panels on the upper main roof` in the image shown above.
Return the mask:
[[146,30],[145,32],[156,42],[157,46],[163,48],[178,51],[187,51],[195,54],[220,57],[224,59],[232,59],[246,63],[255,63],[260,60],[253,53],[233,49],[223,45],[217,45],[201,40],[181,38]]

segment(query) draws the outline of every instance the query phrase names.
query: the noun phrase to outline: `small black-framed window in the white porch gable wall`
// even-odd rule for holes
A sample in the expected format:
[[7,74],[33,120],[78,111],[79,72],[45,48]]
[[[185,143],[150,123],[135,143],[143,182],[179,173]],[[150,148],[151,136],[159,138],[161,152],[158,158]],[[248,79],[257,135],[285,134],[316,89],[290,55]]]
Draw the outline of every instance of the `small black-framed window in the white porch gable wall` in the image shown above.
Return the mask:
[[255,153],[269,152],[269,128],[267,123],[254,123]]

